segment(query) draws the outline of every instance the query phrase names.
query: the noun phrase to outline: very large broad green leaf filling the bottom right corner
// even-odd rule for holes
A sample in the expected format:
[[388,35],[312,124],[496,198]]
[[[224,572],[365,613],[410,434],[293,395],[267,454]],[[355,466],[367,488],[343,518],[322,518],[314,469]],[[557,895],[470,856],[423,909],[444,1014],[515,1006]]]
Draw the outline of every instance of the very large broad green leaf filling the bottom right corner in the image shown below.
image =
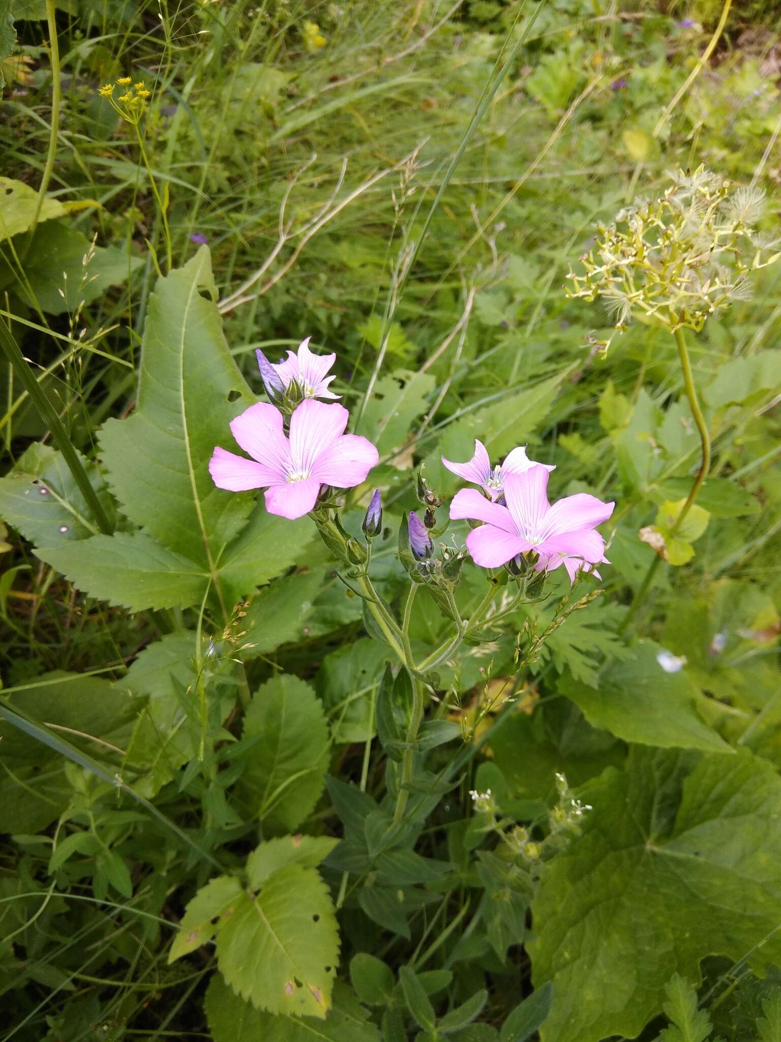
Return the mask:
[[[587,790],[583,834],[556,854],[533,901],[537,986],[552,981],[544,1042],[633,1038],[678,972],[707,956],[781,958],[781,779],[726,758],[632,749]],[[653,950],[653,959],[649,959]]]

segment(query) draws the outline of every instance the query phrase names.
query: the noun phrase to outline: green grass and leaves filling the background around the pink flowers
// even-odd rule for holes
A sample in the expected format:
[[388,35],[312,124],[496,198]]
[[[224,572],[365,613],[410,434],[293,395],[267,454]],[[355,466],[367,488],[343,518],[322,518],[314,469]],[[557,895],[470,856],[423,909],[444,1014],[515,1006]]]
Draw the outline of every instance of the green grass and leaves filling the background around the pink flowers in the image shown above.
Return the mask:
[[[602,356],[562,288],[669,170],[755,180],[778,237],[776,5],[670,107],[722,10],[0,0],[0,321],[85,475],[0,359],[0,1042],[781,1040],[781,266],[689,338],[708,517],[648,593],[637,534],[699,464],[675,344]],[[206,470],[255,348],[307,336],[380,450],[395,610],[415,472],[452,495],[476,437],[616,501],[597,596],[556,573],[449,656],[419,593],[400,826],[405,674],[310,521]]]

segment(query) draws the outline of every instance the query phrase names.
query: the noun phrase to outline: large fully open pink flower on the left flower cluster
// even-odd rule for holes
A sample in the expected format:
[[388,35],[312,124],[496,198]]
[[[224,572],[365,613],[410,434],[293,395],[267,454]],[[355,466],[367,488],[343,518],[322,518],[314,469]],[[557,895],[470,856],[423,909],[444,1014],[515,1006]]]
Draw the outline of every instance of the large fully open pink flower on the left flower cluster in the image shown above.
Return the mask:
[[321,485],[351,489],[360,485],[379,460],[366,438],[344,433],[348,412],[343,405],[302,401],[291,417],[291,437],[282,414],[258,402],[231,421],[240,446],[252,456],[216,448],[209,461],[215,485],[230,492],[266,491],[270,514],[300,518],[313,508]]

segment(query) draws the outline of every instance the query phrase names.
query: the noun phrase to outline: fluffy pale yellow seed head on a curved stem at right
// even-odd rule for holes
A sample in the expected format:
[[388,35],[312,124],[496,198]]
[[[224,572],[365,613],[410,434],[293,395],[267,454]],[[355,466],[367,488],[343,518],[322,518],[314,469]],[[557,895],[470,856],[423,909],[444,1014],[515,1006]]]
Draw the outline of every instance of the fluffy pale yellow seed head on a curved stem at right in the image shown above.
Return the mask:
[[[750,295],[751,272],[781,256],[756,230],[764,193],[733,190],[700,167],[669,175],[661,199],[636,201],[610,225],[598,225],[595,247],[580,258],[584,275],[570,272],[570,297],[602,297],[620,331],[645,317],[671,332],[700,331],[708,316]],[[606,350],[610,341],[594,341]]]

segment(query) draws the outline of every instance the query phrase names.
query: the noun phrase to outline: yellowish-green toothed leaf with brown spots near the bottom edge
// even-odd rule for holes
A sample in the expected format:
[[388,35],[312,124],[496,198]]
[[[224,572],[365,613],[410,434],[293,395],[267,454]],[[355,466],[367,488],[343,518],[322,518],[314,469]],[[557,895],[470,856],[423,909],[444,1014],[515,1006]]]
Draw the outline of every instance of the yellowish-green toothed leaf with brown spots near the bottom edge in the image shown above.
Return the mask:
[[313,868],[287,865],[243,893],[220,924],[217,958],[230,987],[270,1013],[325,1017],[338,961],[336,916]]

